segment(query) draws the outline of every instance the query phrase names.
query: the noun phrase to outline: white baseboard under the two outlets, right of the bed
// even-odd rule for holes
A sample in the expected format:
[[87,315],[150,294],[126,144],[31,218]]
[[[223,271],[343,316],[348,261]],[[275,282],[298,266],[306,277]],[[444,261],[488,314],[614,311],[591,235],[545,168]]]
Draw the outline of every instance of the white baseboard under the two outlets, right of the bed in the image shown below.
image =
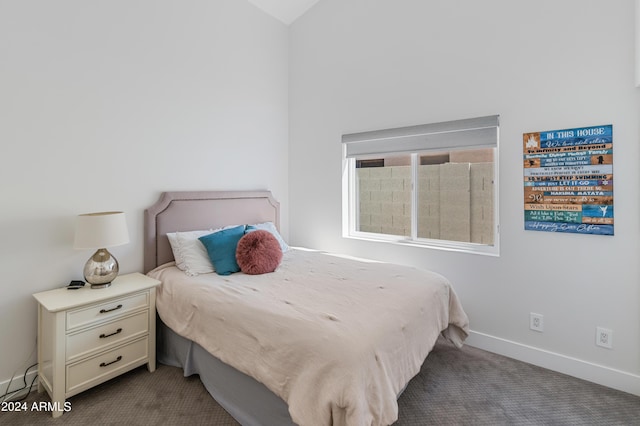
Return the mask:
[[640,376],[581,359],[470,331],[465,344],[640,396]]

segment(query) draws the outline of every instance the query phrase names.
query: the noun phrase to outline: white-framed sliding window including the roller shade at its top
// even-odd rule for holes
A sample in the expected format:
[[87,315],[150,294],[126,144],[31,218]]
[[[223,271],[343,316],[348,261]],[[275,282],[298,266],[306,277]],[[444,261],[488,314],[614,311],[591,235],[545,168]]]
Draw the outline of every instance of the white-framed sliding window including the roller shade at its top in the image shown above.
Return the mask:
[[342,141],[345,236],[498,254],[498,116]]

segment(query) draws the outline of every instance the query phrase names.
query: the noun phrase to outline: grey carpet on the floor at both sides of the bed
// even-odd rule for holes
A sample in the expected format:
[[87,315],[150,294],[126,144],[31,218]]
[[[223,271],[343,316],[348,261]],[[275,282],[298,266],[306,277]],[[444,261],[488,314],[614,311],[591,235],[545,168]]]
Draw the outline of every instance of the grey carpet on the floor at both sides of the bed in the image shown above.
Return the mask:
[[[26,399],[48,401],[32,392]],[[2,425],[237,425],[198,377],[141,367],[70,398],[72,409],[0,412]],[[640,425],[640,397],[439,341],[398,401],[396,425]]]

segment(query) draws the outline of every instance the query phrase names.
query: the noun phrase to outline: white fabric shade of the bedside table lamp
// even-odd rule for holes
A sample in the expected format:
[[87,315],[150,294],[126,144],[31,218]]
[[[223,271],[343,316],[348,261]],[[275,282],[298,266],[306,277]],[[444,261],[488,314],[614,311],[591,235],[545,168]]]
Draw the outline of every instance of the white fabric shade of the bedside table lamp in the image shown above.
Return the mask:
[[129,231],[123,212],[87,213],[76,218],[74,248],[97,249],[128,242]]

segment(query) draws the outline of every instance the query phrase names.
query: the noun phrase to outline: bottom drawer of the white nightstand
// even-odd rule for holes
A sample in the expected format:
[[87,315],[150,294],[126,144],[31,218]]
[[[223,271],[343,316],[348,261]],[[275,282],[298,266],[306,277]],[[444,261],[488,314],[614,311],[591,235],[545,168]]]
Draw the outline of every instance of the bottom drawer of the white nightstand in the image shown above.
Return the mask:
[[136,340],[67,366],[66,392],[76,393],[109,380],[147,361],[149,339]]

